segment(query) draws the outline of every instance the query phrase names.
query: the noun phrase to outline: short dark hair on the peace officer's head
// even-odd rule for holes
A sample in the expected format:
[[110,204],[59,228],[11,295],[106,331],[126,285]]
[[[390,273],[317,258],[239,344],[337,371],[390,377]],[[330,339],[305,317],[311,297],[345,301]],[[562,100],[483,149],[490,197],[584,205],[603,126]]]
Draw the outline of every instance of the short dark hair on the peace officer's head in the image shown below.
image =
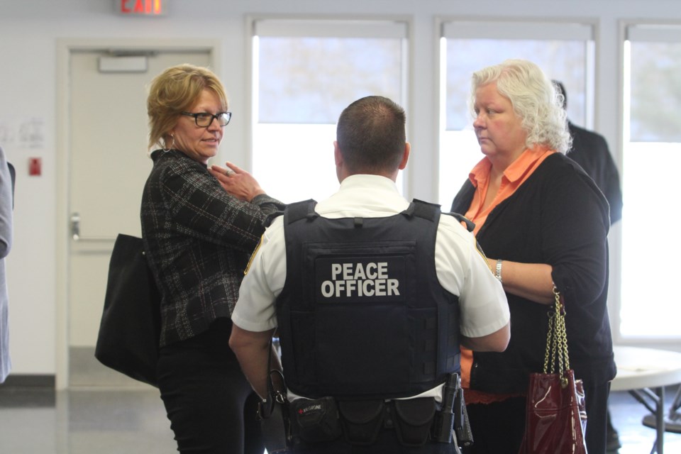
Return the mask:
[[404,155],[404,109],[384,96],[366,96],[343,110],[336,140],[353,173],[392,172]]

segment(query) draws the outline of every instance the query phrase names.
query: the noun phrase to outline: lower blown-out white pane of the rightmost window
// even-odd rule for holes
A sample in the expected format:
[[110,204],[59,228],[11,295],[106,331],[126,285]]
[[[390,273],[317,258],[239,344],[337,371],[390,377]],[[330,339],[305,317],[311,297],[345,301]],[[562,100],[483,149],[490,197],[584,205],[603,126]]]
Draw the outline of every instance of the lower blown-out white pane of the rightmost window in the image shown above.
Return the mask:
[[678,192],[679,165],[681,143],[624,146],[620,309],[624,338],[681,338],[680,301],[663,271],[681,256],[677,223],[665,221],[677,210],[675,198],[668,194]]

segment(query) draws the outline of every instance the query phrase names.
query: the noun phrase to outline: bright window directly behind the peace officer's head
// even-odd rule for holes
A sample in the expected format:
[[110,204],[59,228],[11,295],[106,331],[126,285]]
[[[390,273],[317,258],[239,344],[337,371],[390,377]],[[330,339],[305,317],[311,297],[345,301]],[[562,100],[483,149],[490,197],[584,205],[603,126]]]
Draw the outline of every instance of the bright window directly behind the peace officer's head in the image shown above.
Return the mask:
[[341,111],[367,95],[406,109],[407,25],[263,19],[253,30],[253,174],[284,202],[326,198]]

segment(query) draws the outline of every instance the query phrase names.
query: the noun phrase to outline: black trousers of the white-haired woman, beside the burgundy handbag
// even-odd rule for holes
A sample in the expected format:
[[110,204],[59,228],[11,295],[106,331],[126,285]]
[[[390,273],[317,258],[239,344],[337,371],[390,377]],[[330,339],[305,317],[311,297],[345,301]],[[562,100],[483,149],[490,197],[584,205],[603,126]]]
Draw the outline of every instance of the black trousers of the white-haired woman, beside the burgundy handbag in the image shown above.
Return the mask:
[[[587,406],[585,440],[589,454],[605,453],[610,383],[584,384]],[[494,404],[468,404],[473,445],[465,454],[518,454],[525,431],[525,398],[514,397]]]

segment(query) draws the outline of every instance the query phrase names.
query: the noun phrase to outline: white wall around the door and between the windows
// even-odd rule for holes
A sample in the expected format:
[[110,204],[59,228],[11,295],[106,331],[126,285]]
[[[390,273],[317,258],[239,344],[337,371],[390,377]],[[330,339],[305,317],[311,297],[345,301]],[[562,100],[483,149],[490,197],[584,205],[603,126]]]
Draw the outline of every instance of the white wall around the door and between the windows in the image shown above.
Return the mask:
[[[304,16],[402,16],[414,24],[411,49],[410,140],[415,150],[410,162],[410,196],[436,199],[430,184],[437,163],[436,18],[522,17],[597,18],[596,127],[608,139],[621,162],[619,140],[619,21],[641,18],[681,21],[677,0],[165,0],[169,15],[162,18],[117,16],[114,0],[0,0],[0,140],[2,126],[35,118],[43,122],[44,139],[38,148],[0,143],[17,169],[15,243],[7,270],[10,293],[10,336],[13,373],[55,374],[57,311],[65,282],[59,245],[65,243],[65,214],[57,213],[63,196],[57,187],[65,167],[57,162],[60,124],[57,112],[57,40],[129,38],[210,38],[221,41],[222,68],[218,69],[234,111],[249,101],[248,14]],[[418,88],[418,89],[415,89]],[[236,117],[238,118],[238,117]],[[244,119],[245,121],[245,119]],[[62,123],[63,124],[63,123]],[[248,162],[248,131],[237,123],[228,135],[228,153],[235,162]],[[115,121],[111,123],[115,128]],[[102,144],[105,146],[105,144]],[[28,157],[43,160],[43,175],[28,176]],[[616,232],[614,232],[616,235]],[[58,236],[57,236],[58,235]],[[618,241],[615,238],[615,243]],[[616,247],[615,244],[612,245]],[[613,291],[619,291],[612,289]],[[617,297],[618,295],[614,295]]]

